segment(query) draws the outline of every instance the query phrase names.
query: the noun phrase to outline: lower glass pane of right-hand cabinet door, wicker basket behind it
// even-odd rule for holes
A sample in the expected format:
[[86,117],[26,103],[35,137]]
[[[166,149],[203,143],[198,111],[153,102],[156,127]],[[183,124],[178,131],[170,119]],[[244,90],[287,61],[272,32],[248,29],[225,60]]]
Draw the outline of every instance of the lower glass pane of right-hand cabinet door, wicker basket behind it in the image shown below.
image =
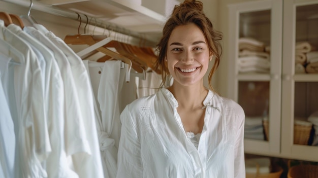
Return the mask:
[[294,144],[318,146],[318,82],[295,82]]

